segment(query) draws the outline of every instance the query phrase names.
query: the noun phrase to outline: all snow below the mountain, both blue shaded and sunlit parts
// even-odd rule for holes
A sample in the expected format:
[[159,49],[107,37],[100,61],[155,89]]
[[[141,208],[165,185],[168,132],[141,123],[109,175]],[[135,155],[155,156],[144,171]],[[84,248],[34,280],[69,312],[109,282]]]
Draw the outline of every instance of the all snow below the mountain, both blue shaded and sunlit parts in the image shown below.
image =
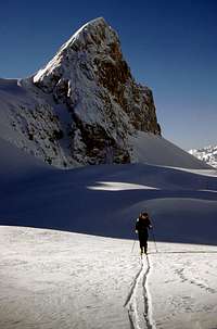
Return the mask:
[[[0,151],[0,328],[217,328],[216,170],[158,152],[61,170]],[[156,239],[142,260],[141,210]]]

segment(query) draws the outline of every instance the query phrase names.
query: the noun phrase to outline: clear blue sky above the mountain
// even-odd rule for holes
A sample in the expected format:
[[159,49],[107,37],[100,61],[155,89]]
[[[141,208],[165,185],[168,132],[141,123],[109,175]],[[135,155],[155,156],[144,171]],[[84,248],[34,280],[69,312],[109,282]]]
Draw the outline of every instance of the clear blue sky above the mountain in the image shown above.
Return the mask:
[[98,16],[117,30],[136,79],[152,88],[163,135],[183,149],[217,144],[216,0],[3,1],[0,77],[33,74]]

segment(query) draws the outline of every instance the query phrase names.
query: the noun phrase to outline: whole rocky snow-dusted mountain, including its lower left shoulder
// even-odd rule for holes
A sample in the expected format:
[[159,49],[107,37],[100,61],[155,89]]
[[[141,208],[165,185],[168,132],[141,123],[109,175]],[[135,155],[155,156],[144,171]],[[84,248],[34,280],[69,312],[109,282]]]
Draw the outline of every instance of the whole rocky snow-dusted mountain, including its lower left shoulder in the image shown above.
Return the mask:
[[130,136],[161,135],[152,91],[135,81],[102,17],[34,76],[1,79],[0,105],[3,138],[59,167],[130,163]]

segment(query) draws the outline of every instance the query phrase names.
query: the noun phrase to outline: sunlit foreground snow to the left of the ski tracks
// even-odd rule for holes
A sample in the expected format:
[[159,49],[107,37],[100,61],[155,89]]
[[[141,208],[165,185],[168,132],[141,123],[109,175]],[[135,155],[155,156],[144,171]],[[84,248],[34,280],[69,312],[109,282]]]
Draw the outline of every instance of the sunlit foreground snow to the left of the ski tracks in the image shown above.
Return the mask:
[[0,230],[0,328],[129,328],[123,305],[139,268],[130,240]]

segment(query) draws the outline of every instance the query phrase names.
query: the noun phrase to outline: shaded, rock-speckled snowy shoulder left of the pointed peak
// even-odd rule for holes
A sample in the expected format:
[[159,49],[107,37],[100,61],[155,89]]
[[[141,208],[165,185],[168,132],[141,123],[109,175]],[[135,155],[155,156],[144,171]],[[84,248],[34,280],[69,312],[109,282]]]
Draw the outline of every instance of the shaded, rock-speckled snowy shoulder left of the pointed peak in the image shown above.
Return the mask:
[[29,84],[0,79],[0,138],[51,163],[65,161],[60,148],[61,124],[53,107]]

